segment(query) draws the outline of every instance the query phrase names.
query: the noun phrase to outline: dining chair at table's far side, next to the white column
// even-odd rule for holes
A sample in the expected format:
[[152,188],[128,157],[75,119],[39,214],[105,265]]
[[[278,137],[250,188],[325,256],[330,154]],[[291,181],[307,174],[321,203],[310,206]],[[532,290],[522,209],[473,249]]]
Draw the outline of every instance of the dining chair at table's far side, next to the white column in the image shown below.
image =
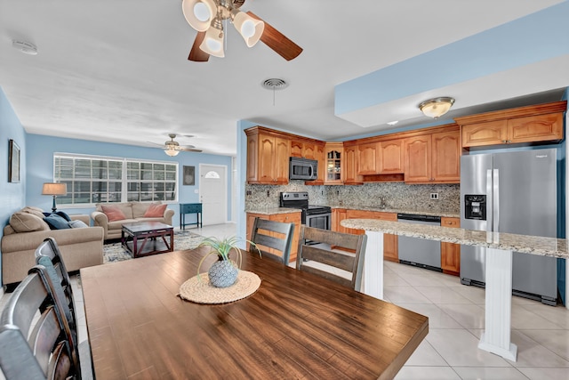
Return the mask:
[[[307,271],[331,279],[346,287],[359,291],[362,286],[362,267],[364,265],[364,253],[367,236],[353,235],[332,230],[321,230],[302,225],[299,240],[299,250],[296,256],[296,269]],[[309,244],[307,244],[309,243]],[[348,251],[332,249],[331,247],[343,247]],[[355,254],[351,252],[354,251]],[[347,271],[351,278],[341,276],[340,273],[330,268],[313,266],[313,263],[321,263]]]

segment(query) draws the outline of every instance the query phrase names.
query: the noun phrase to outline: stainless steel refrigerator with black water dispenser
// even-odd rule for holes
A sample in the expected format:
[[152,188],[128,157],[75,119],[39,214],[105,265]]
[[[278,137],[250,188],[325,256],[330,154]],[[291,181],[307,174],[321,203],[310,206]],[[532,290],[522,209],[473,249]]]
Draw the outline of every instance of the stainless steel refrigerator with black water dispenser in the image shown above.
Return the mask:
[[[461,228],[557,237],[557,151],[461,157]],[[515,252],[514,295],[557,302],[557,259]],[[485,285],[485,248],[461,246],[461,283]]]

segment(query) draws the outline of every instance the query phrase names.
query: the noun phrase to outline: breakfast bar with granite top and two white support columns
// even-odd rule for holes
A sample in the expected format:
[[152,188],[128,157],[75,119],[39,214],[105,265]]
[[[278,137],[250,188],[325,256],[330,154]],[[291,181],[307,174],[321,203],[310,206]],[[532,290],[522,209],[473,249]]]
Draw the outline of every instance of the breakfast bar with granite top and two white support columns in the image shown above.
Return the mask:
[[380,299],[383,298],[384,233],[485,247],[485,332],[480,338],[478,348],[513,361],[517,359],[517,346],[510,341],[513,252],[569,258],[566,239],[375,219],[346,219],[341,222],[341,225],[351,229],[365,230],[367,247],[362,292]]

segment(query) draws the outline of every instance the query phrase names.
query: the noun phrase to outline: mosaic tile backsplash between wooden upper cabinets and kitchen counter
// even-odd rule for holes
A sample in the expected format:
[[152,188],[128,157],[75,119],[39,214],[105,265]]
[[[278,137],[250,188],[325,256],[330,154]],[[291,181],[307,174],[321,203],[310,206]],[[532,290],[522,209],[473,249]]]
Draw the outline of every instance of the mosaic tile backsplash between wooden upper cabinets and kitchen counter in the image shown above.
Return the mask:
[[[460,213],[461,187],[458,184],[407,185],[402,182],[365,183],[359,186],[306,186],[304,181],[287,185],[245,185],[245,207],[277,207],[281,191],[308,191],[311,205],[417,209]],[[437,193],[438,199],[430,199]],[[381,200],[382,199],[382,200]]]

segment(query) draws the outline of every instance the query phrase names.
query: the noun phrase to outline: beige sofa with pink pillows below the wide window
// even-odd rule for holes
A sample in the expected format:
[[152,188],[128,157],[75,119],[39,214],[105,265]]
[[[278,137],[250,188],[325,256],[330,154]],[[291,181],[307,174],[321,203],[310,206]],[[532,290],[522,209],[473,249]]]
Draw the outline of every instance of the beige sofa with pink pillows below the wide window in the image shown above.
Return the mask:
[[[98,203],[95,206],[96,209],[91,214],[93,225],[103,228],[105,231],[105,240],[120,239],[124,223],[163,222],[164,224],[172,225],[172,216],[174,215],[174,210],[165,208],[164,213],[159,216],[145,216],[151,206],[166,206],[161,202]],[[124,219],[116,219],[116,213],[113,211],[108,212],[108,207],[118,208],[124,215]],[[107,214],[105,214],[106,212]],[[109,216],[111,217],[109,218]],[[115,216],[115,218],[112,216]]]

